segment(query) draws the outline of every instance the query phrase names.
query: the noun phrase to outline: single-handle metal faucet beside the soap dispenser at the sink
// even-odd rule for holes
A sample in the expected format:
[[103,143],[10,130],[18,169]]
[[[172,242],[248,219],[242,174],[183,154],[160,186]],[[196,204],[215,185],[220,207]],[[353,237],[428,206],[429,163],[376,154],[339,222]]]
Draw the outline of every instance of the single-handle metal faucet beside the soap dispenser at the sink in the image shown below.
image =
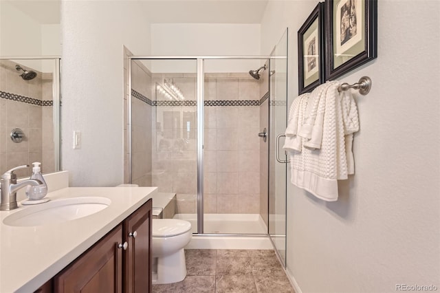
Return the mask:
[[17,184],[17,175],[14,171],[18,169],[29,168],[29,165],[18,166],[1,175],[1,204],[0,210],[14,210],[17,205],[17,191],[25,186],[39,186],[43,184],[40,180],[28,179]]

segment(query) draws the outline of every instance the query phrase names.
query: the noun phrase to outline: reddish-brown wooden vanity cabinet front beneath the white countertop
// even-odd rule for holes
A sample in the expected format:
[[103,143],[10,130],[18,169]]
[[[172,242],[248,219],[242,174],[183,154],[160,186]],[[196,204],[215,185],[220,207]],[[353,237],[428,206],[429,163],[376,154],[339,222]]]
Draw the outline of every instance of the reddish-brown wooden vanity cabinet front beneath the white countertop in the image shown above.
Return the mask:
[[54,292],[151,292],[151,204],[149,199],[54,276]]

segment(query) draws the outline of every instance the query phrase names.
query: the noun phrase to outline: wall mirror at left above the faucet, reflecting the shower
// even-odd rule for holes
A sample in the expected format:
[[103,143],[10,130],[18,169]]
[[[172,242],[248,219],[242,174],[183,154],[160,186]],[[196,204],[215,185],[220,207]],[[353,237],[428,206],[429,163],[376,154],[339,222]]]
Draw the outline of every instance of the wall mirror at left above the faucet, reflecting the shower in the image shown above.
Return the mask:
[[0,1],[0,174],[61,169],[60,14],[60,1]]

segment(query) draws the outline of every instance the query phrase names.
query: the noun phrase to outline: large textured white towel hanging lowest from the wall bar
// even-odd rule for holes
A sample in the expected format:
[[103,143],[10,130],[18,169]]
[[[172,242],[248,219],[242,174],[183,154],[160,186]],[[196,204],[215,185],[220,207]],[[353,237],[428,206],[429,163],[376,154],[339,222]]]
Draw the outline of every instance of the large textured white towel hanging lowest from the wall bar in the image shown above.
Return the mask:
[[[345,108],[342,110],[338,86],[339,83],[333,81],[315,89],[325,93],[320,97],[320,101],[325,102],[324,111],[316,111],[311,135],[313,139],[313,130],[322,127],[320,149],[307,148],[305,142],[300,152],[289,152],[292,183],[329,202],[338,199],[338,180],[348,177],[345,131],[355,129],[355,123],[352,123],[355,118],[351,117],[353,105],[350,99],[344,98]],[[319,102],[317,109],[320,109]],[[344,124],[343,113],[347,113],[347,125]]]

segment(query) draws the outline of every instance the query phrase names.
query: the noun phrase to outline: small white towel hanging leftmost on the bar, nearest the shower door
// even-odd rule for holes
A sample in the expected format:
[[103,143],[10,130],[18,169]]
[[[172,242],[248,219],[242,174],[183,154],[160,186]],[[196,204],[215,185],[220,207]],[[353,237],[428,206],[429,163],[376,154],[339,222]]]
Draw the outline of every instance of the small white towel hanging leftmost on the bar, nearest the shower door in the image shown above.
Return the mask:
[[301,96],[298,96],[290,106],[289,118],[285,131],[286,139],[283,145],[283,149],[286,151],[301,151],[303,138],[298,136],[297,133],[300,131],[300,127],[303,124],[303,116],[307,107],[308,99],[308,93],[302,94]]

